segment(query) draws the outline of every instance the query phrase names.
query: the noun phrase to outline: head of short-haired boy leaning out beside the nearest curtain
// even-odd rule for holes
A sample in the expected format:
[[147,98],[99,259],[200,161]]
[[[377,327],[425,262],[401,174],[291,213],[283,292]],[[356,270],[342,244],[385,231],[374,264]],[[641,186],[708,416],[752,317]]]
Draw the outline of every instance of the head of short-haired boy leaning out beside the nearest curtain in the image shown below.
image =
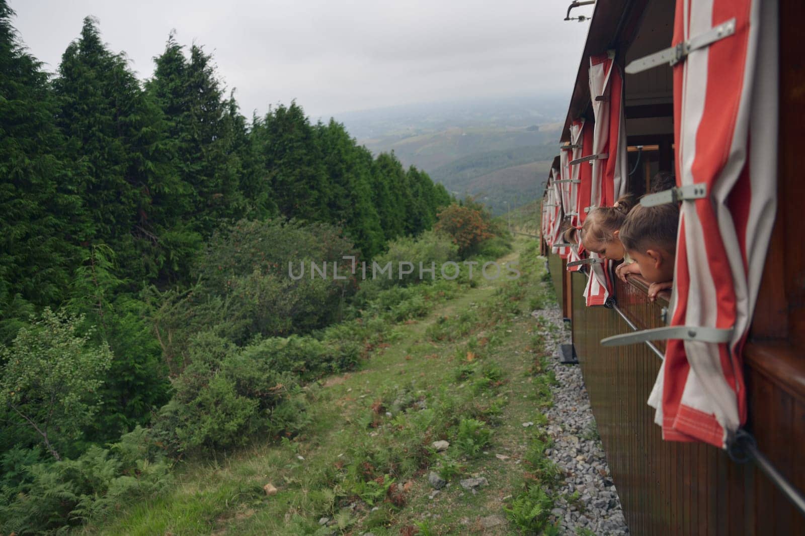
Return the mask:
[[638,205],[626,216],[618,235],[642,276],[650,283],[660,283],[674,278],[678,230],[679,207],[675,204]]

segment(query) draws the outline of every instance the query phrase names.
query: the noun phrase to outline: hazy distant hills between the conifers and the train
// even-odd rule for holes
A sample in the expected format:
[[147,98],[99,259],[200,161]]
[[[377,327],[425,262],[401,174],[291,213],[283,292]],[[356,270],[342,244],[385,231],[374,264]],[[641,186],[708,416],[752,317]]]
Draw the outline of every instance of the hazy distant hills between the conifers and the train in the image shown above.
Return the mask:
[[529,96],[367,110],[336,121],[373,153],[394,151],[499,215],[542,194],[565,110],[564,100]]

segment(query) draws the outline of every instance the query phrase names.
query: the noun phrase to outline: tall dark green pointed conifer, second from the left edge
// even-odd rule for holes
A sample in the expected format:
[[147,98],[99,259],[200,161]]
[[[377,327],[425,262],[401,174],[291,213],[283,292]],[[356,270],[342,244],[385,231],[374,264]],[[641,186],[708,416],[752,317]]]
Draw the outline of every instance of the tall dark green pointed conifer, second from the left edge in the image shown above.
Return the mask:
[[167,258],[160,244],[166,207],[180,194],[162,113],[89,17],[64,52],[54,87],[84,202],[78,238],[109,244],[135,280],[156,276]]

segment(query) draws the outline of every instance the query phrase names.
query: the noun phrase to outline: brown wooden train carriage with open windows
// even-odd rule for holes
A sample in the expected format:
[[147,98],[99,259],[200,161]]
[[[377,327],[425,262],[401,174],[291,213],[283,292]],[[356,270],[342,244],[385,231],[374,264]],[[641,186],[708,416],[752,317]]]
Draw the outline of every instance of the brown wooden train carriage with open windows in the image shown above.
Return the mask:
[[[688,9],[697,1],[679,0],[679,5]],[[605,347],[601,339],[665,325],[670,295],[649,301],[646,281],[634,276],[629,283],[614,280],[606,305],[591,306],[584,296],[590,270],[568,272],[568,253],[555,233],[556,226],[572,219],[568,210],[554,207],[559,190],[576,182],[551,170],[547,183],[542,248],[564,316],[572,321],[573,346],[633,534],[805,534],[805,239],[798,229],[805,207],[805,166],[798,158],[805,146],[805,61],[797,39],[805,2],[763,2],[777,11],[778,23],[777,169],[767,170],[778,198],[743,349],[748,408],[743,429],[756,440],[756,446],[742,451],[748,460],[733,461],[735,452],[731,457],[702,442],[663,440],[646,400],[665,342]],[[574,125],[594,125],[596,119],[590,58],[609,53],[623,72],[635,59],[669,47],[677,5],[675,0],[597,0],[561,140],[568,153],[573,145],[582,153],[588,149],[586,141],[573,140]],[[642,195],[658,170],[675,168],[679,102],[668,63],[627,72],[622,84],[628,174],[621,174],[621,187]],[[562,166],[557,159],[554,168]]]

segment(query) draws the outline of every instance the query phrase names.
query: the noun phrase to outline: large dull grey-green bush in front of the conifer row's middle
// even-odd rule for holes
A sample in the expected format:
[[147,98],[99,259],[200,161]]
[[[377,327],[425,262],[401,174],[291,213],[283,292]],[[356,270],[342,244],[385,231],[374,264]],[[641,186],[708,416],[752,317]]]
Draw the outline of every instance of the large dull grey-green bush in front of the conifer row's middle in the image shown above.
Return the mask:
[[[324,224],[241,221],[217,231],[193,275],[200,283],[185,292],[149,288],[147,301],[154,332],[172,374],[188,365],[190,338],[202,331],[237,344],[255,336],[276,337],[320,329],[341,317],[344,301],[357,288],[350,260],[357,252]],[[339,263],[345,280],[334,279]],[[311,262],[328,264],[328,277],[310,273]],[[299,263],[304,276],[295,274]]]

